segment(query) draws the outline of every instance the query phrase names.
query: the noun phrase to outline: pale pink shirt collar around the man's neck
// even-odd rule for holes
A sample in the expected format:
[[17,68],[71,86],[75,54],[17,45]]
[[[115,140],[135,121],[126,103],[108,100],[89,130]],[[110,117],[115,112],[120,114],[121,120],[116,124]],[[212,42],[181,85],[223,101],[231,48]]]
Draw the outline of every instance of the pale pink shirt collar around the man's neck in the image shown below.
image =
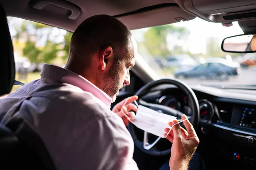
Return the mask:
[[64,69],[58,66],[44,64],[41,72],[41,80],[48,82],[67,83],[73,86],[77,86],[85,92],[92,93],[96,98],[99,98],[108,108],[111,107],[112,98],[105,92],[92,84],[90,81],[71,72],[68,69]]

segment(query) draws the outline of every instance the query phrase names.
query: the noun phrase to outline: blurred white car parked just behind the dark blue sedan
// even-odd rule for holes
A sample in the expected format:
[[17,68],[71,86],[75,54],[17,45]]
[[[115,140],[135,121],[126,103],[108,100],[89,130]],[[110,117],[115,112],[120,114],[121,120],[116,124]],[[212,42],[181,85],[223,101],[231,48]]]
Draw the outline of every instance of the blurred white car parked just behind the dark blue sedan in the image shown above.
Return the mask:
[[166,57],[166,67],[194,67],[198,63],[187,54],[169,55]]

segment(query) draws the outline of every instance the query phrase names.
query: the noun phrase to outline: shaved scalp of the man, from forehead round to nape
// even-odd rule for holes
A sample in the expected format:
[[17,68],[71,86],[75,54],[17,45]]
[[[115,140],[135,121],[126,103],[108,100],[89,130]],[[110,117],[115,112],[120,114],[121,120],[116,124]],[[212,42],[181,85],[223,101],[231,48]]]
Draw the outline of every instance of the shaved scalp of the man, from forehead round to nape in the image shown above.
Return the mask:
[[82,22],[74,32],[70,43],[70,61],[76,68],[90,66],[93,55],[107,46],[113,49],[115,62],[129,56],[133,50],[130,30],[119,20],[108,15],[95,15]]

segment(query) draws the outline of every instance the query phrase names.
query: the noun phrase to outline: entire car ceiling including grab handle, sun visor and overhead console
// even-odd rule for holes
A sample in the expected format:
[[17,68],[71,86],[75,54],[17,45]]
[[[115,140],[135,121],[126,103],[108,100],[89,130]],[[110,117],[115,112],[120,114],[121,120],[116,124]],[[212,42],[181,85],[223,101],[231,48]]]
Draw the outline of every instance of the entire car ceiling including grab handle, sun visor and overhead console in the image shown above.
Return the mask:
[[83,20],[96,14],[116,17],[129,29],[200,17],[217,23],[239,21],[244,33],[256,32],[255,0],[204,0],[203,3],[201,0],[0,0],[0,3],[7,16],[71,32]]

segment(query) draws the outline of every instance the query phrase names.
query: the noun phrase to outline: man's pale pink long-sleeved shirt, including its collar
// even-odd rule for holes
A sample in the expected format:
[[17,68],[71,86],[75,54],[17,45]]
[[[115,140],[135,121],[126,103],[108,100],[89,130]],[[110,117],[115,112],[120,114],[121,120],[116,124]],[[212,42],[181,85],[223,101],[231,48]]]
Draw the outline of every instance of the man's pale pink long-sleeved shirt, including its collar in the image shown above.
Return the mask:
[[111,101],[80,75],[44,64],[41,79],[0,100],[0,121],[31,127],[59,170],[137,170],[133,140]]

